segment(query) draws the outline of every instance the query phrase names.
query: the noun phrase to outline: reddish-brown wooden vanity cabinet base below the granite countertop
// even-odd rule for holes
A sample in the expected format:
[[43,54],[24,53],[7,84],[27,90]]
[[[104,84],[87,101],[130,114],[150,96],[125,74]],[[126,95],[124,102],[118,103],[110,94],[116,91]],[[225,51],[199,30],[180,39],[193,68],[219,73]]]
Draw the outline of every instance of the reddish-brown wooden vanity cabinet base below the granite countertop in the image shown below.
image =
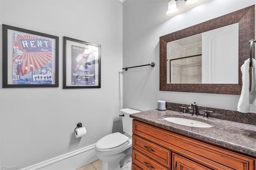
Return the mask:
[[255,157],[133,120],[132,170],[256,170]]

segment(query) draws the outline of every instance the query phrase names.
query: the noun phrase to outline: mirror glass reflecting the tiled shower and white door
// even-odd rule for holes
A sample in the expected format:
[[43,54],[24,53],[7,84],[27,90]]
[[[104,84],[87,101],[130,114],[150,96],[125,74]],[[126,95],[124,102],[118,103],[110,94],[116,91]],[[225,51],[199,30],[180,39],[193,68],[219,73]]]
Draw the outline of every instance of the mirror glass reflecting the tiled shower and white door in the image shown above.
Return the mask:
[[237,84],[238,24],[168,42],[167,83]]

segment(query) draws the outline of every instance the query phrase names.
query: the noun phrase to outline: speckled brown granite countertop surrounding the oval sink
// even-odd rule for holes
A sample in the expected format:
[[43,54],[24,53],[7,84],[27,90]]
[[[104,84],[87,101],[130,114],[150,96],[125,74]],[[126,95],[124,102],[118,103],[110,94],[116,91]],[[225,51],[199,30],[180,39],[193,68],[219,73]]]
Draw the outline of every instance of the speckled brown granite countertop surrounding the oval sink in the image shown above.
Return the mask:
[[[222,119],[203,118],[176,111],[149,110],[131,114],[135,120],[200,139],[218,146],[256,156],[256,126]],[[184,117],[212,125],[209,128],[188,127],[164,120],[164,117]]]

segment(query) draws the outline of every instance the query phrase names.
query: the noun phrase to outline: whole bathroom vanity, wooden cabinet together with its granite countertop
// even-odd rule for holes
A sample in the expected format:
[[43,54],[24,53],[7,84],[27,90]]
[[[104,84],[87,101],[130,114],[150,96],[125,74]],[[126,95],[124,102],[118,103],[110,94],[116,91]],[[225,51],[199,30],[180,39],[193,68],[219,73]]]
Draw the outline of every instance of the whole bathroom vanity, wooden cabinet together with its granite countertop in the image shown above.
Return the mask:
[[[133,118],[132,170],[256,170],[256,126],[176,111],[150,110]],[[171,123],[186,117],[208,128]]]

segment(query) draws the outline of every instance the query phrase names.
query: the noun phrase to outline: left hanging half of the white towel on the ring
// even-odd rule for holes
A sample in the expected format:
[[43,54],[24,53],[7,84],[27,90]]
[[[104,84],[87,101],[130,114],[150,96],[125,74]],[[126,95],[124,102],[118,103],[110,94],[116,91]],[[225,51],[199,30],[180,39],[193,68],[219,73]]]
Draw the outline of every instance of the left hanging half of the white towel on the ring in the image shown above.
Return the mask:
[[238,101],[237,111],[248,113],[250,111],[250,79],[249,79],[250,59],[244,61],[242,71],[242,91]]

